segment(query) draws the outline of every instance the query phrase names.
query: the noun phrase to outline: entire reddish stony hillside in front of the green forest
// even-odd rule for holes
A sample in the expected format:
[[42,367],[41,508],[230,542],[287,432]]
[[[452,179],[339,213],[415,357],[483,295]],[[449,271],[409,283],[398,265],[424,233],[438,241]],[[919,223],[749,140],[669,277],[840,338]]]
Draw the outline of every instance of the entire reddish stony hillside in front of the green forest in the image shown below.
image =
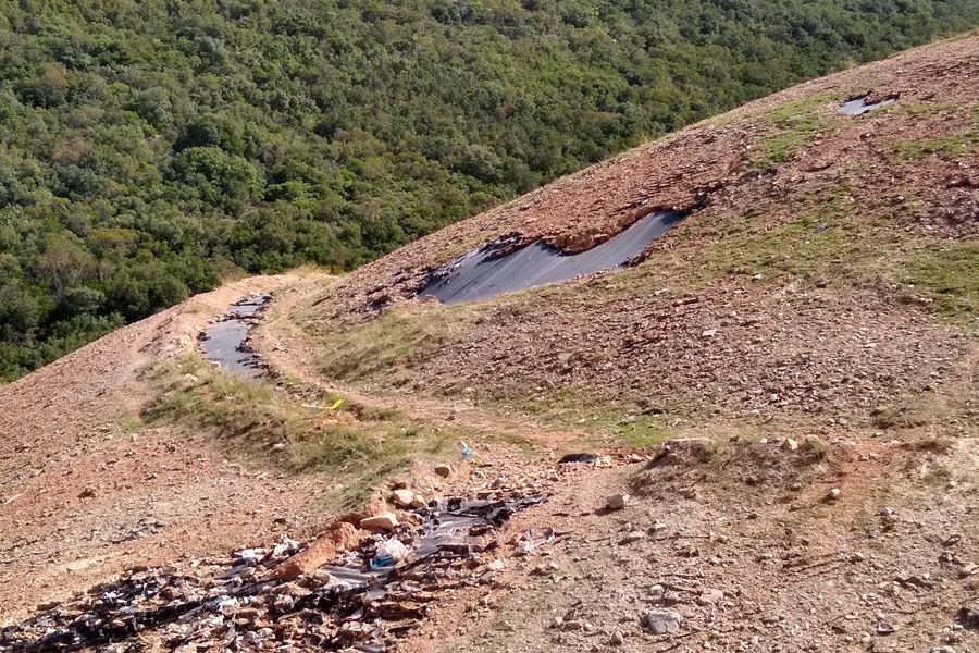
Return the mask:
[[[979,650],[977,84],[807,82],[11,383],[0,649]],[[253,382],[202,352],[258,293]]]

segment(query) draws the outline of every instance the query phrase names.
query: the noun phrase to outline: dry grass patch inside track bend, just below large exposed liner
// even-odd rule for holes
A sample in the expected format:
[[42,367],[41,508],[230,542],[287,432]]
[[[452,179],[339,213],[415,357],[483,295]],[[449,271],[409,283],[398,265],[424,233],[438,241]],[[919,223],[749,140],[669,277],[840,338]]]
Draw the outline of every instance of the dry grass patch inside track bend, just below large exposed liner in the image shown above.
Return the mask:
[[396,304],[368,322],[336,326],[320,343],[319,368],[334,379],[383,377],[397,384],[405,370],[461,337],[479,311],[473,305]]

